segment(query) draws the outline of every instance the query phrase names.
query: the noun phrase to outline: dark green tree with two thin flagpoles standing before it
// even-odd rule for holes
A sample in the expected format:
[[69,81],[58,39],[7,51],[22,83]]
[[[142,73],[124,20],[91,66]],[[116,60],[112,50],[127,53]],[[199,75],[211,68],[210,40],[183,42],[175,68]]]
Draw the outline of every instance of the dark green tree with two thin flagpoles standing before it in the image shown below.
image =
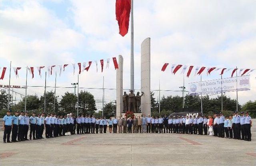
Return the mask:
[[[44,110],[44,95],[40,97],[39,109]],[[46,112],[53,112],[54,110],[54,92],[46,92]],[[59,111],[59,103],[57,102],[57,97],[55,97],[55,113]]]

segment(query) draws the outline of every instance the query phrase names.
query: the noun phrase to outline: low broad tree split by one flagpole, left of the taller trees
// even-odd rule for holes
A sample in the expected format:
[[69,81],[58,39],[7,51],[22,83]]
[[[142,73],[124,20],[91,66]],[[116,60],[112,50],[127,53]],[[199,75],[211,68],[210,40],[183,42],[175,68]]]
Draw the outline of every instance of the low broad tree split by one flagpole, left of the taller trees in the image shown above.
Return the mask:
[[[28,95],[27,96],[27,103],[26,103],[26,110],[35,110],[39,109],[40,100],[37,95]],[[16,109],[24,110],[25,109],[25,97],[16,105]]]

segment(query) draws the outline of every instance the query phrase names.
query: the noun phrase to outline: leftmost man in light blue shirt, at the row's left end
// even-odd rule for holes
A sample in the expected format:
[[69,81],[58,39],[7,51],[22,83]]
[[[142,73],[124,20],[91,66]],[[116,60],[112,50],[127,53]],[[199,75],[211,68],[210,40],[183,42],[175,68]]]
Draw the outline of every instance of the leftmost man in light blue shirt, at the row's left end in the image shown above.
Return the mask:
[[10,141],[10,134],[12,131],[12,116],[11,116],[11,112],[8,110],[6,112],[6,115],[3,118],[3,128],[4,128],[4,143],[6,143],[6,138],[7,138],[7,142],[11,143]]

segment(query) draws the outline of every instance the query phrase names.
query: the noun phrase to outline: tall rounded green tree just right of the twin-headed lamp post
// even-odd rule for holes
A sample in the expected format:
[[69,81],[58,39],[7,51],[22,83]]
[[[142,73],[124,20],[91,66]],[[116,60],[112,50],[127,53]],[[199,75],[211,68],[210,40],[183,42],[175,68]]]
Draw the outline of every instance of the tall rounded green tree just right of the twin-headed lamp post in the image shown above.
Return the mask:
[[79,97],[78,107],[79,107],[80,113],[93,115],[97,110],[94,96],[88,91],[80,91],[80,93],[78,94],[78,97]]

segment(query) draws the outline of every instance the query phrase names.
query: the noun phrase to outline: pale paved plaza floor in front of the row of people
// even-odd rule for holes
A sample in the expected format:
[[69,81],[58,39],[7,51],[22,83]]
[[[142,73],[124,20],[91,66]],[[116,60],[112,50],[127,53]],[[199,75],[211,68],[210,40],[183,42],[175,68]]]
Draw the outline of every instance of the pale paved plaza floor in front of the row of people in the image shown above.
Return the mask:
[[[1,140],[3,132],[0,133]],[[255,166],[252,141],[188,134],[81,134],[0,143],[0,166]]]

